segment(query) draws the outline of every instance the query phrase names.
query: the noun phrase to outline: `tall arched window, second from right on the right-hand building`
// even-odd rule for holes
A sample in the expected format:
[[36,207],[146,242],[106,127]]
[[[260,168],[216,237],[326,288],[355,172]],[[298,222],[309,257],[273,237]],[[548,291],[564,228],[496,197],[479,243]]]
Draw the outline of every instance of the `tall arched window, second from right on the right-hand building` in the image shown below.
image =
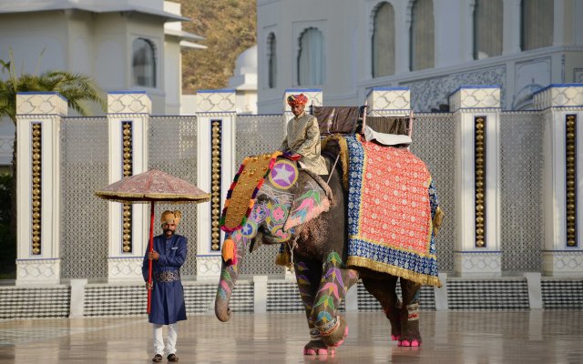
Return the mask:
[[502,0],[476,0],[474,59],[502,55]]

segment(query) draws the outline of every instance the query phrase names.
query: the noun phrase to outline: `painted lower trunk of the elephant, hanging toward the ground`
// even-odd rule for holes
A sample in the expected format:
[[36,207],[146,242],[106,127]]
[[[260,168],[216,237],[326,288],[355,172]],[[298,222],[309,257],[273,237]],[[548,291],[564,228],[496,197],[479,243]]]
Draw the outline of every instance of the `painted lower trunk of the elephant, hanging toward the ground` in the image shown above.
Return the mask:
[[217,298],[215,299],[215,315],[217,319],[223,322],[229,321],[230,319],[230,295],[232,294],[233,288],[235,287],[235,282],[239,277],[239,268],[242,258],[245,255],[245,245],[244,239],[239,237],[231,237],[236,243],[236,254],[237,259],[235,263],[232,261],[225,262],[222,261],[222,268],[220,269],[220,281],[219,287],[217,288]]

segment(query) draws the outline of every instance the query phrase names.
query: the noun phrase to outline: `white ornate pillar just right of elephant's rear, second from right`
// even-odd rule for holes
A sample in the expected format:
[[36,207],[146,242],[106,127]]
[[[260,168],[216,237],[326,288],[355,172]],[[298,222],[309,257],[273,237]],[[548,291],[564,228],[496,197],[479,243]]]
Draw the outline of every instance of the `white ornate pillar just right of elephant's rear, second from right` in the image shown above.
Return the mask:
[[500,276],[500,88],[462,86],[455,116],[455,272]]

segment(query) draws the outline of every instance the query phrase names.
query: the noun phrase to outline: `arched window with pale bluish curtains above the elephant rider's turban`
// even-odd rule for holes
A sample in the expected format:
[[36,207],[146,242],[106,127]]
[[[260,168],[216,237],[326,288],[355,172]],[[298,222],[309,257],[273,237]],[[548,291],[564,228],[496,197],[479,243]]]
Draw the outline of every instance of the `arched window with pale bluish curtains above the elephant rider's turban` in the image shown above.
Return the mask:
[[300,36],[298,54],[298,85],[313,86],[324,83],[324,37],[316,28],[308,28]]

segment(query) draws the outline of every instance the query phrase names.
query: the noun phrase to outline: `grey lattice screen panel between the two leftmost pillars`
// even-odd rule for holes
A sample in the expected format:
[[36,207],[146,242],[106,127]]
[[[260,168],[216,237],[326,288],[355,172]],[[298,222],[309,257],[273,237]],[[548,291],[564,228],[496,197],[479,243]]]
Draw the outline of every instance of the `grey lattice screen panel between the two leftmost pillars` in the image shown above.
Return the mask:
[[61,121],[61,277],[107,278],[107,119]]

